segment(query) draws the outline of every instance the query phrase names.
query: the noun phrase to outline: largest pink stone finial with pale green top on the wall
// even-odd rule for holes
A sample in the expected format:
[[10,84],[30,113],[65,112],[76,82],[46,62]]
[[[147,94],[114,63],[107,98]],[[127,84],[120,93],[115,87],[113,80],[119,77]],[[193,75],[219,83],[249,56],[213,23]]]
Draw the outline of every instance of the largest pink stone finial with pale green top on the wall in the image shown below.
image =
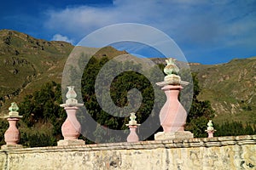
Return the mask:
[[166,104],[160,111],[160,125],[164,132],[154,134],[154,139],[189,139],[193,138],[193,133],[184,131],[184,125],[187,119],[187,112],[183,105],[178,101],[178,94],[183,89],[181,85],[188,85],[189,82],[181,81],[177,75],[179,71],[174,63],[175,59],[167,59],[165,72],[167,76],[164,82],[157,82],[165,94]]

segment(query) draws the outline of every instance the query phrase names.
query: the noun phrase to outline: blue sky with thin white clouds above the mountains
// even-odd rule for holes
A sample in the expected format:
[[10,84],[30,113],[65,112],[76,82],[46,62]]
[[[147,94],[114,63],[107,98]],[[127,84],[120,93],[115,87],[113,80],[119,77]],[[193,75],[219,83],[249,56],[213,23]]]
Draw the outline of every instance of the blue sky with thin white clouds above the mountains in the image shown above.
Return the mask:
[[189,62],[256,56],[255,0],[9,0],[0,6],[0,23],[73,44],[103,26],[138,23],[172,37]]

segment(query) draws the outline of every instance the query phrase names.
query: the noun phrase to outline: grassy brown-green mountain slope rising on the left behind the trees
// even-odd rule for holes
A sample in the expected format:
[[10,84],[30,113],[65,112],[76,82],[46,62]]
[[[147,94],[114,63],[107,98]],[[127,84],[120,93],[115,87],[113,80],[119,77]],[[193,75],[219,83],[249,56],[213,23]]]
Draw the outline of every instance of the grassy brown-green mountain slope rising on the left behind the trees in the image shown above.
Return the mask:
[[[7,114],[9,103],[19,103],[45,82],[61,83],[62,71],[74,46],[67,42],[45,41],[24,33],[0,30],[0,115]],[[127,54],[112,47],[86,48],[97,58]]]

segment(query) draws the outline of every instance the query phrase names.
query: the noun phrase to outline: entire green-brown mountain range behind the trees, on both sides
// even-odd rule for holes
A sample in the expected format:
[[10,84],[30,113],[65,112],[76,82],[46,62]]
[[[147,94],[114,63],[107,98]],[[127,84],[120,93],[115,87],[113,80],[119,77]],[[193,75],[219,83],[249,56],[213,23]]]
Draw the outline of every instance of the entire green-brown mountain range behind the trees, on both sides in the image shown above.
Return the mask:
[[[46,41],[18,31],[0,30],[0,115],[8,113],[10,102],[19,103],[45,82],[61,83],[63,67],[74,46]],[[88,50],[98,50],[87,48]],[[112,47],[99,49],[95,57],[113,58],[127,54]],[[165,64],[165,59],[152,59]],[[256,57],[232,59],[218,65],[189,63],[197,73],[201,94],[216,111],[213,122],[256,121]]]

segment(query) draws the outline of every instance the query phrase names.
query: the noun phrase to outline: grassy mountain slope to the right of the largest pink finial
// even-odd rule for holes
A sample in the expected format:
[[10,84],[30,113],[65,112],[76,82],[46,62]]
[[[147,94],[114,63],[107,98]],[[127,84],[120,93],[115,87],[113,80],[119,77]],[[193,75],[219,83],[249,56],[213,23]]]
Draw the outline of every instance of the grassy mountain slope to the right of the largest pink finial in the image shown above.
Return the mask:
[[[196,65],[198,67],[198,65]],[[193,68],[196,70],[197,68]],[[221,65],[201,66],[199,99],[207,99],[217,113],[215,121],[255,122],[256,58],[233,59]]]

